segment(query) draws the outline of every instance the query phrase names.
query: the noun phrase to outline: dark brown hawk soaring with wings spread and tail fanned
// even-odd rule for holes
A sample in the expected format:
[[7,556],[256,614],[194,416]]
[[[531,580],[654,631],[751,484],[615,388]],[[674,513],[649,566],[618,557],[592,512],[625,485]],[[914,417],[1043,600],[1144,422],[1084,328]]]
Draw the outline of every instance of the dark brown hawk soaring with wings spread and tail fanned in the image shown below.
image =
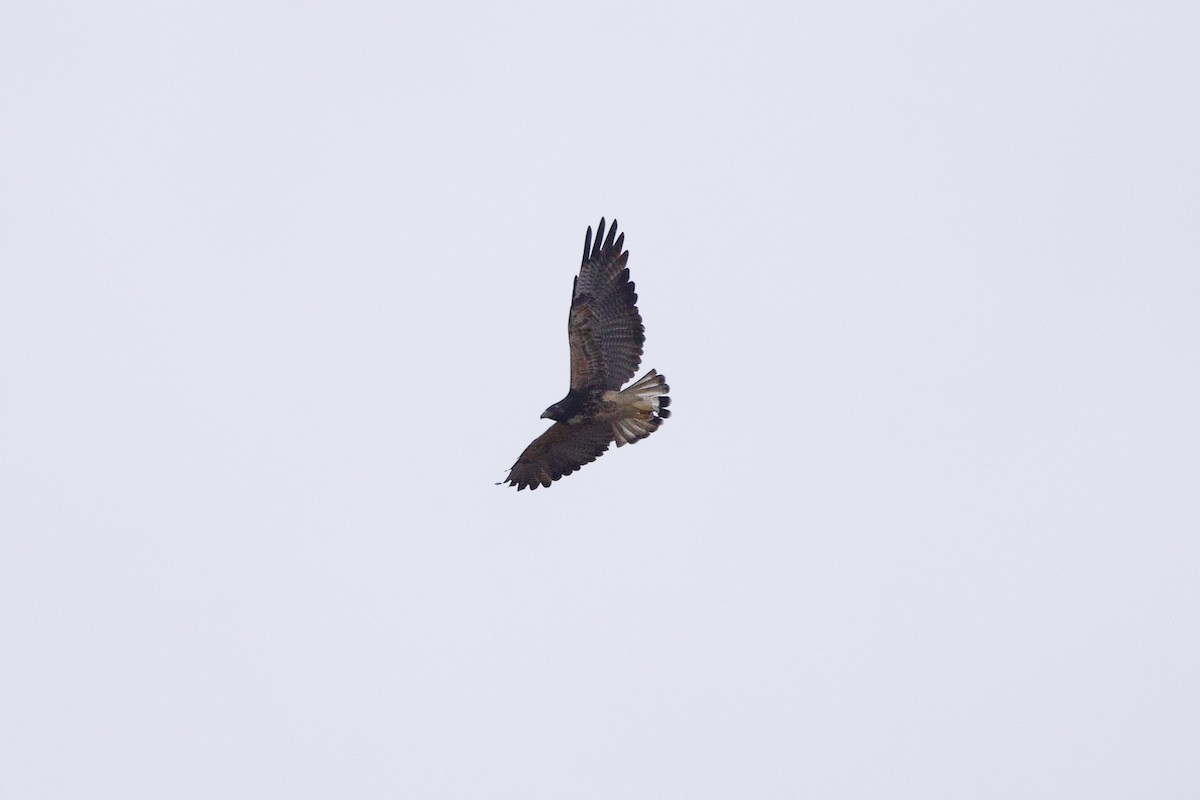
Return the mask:
[[619,447],[644,439],[671,416],[671,387],[654,369],[622,390],[637,372],[646,342],[624,245],[616,219],[607,236],[600,219],[594,247],[588,228],[566,320],[571,390],[542,411],[554,425],[526,447],[502,482],[517,489],[550,486],[594,462],[613,440]]

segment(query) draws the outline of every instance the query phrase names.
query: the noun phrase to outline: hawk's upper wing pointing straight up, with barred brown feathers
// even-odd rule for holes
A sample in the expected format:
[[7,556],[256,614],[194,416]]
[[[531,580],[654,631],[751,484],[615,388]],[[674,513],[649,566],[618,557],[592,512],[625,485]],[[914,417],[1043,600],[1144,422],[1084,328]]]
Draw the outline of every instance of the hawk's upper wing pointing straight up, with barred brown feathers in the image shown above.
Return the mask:
[[620,389],[642,362],[646,329],[629,279],[625,234],[617,221],[605,236],[604,219],[583,240],[583,265],[571,293],[566,337],[571,345],[571,389]]

